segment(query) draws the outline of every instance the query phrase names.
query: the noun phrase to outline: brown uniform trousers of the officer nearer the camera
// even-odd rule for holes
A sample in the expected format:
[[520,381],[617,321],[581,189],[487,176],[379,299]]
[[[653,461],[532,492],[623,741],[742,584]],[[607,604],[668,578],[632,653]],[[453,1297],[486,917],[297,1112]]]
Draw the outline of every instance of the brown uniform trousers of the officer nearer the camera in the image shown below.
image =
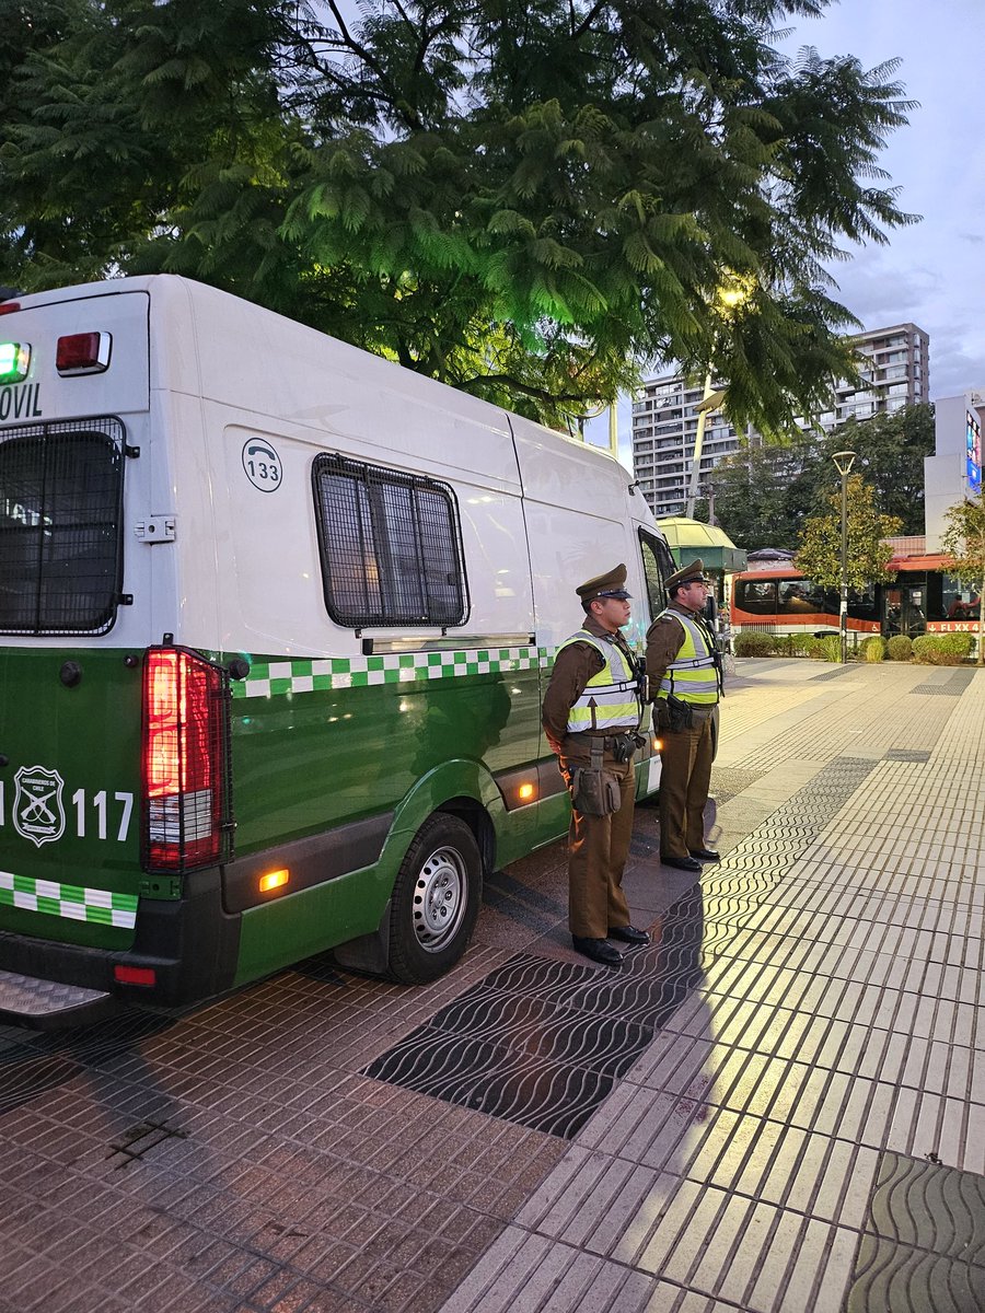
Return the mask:
[[[590,755],[569,752],[569,743],[562,744],[559,760],[570,786],[571,771],[577,765],[590,765]],[[629,924],[623,872],[633,834],[636,769],[632,762],[617,762],[608,751],[603,765],[619,779],[619,811],[592,817],[571,807],[571,827],[567,831],[567,919],[571,934],[578,939],[604,939],[609,927]]]

